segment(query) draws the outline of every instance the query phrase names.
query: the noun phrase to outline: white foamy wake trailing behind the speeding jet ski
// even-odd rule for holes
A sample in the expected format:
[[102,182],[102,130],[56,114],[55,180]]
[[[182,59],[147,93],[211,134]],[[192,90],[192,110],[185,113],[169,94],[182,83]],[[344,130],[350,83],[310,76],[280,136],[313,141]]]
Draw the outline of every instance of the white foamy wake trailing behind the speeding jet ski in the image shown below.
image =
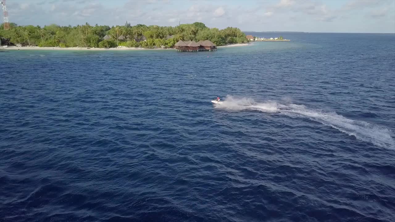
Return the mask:
[[227,96],[222,104],[216,105],[218,108],[231,110],[259,110],[262,112],[280,112],[284,115],[300,115],[311,120],[331,126],[340,132],[353,135],[357,139],[370,142],[376,146],[387,149],[395,149],[395,140],[391,136],[393,132],[388,128],[370,124],[368,122],[352,120],[334,112],[324,112],[318,109],[309,109],[305,105],[281,104],[275,101],[256,103],[251,98],[235,98]]

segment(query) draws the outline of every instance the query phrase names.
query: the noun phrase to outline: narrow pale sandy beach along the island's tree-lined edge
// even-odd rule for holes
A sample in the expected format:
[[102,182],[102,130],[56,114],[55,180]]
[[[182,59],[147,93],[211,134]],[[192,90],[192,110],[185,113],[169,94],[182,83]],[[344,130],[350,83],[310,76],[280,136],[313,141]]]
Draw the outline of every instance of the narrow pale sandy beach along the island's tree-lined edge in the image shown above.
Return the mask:
[[[218,48],[222,47],[236,47],[236,46],[246,46],[248,43],[241,43],[241,44],[229,44],[229,45],[222,45],[218,46]],[[88,49],[87,47],[67,47],[67,48],[60,48],[60,47],[16,47],[16,46],[9,46],[5,48],[0,48],[0,49],[5,49],[5,50],[57,50],[57,51],[127,51],[127,50],[175,50],[173,48],[159,48],[159,49],[146,49],[146,48],[141,48],[141,47],[115,47],[115,48],[90,48]]]

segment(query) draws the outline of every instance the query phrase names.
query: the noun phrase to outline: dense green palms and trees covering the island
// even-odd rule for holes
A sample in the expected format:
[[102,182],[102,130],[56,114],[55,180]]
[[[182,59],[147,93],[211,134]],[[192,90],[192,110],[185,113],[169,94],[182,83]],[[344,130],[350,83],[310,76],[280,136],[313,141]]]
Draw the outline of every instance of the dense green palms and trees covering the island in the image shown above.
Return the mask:
[[[40,26],[17,26],[11,23],[10,30],[0,26],[2,44],[40,47],[173,47],[179,40],[211,40],[214,44],[246,43],[248,40],[239,28],[228,27],[222,30],[208,28],[203,23],[181,24],[171,26],[91,26],[88,23],[77,26],[58,26],[51,24]],[[110,40],[103,40],[108,36]]]

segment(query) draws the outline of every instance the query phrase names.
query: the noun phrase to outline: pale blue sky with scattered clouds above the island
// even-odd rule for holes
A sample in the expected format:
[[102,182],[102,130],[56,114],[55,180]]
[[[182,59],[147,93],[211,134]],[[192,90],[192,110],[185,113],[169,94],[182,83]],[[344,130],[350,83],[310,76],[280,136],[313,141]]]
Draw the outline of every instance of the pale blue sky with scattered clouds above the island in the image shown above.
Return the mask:
[[395,0],[7,0],[20,25],[199,21],[243,31],[395,33]]

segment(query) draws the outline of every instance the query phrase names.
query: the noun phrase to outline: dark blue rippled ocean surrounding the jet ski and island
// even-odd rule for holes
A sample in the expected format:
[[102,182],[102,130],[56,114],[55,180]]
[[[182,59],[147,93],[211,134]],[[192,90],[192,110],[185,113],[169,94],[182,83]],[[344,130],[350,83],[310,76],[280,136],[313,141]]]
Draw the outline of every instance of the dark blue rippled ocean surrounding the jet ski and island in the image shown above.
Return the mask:
[[0,221],[394,221],[395,35],[252,34],[2,53]]

